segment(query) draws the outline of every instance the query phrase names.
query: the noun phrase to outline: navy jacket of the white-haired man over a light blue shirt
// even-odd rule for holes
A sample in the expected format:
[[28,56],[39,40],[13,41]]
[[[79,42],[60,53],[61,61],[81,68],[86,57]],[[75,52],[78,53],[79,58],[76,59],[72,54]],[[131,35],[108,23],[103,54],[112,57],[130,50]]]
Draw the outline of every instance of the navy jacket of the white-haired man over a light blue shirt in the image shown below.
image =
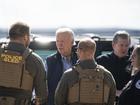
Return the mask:
[[[72,65],[77,62],[75,51],[71,54]],[[47,62],[47,83],[48,83],[48,105],[54,105],[54,94],[57,84],[63,74],[62,57],[59,52],[46,58]]]

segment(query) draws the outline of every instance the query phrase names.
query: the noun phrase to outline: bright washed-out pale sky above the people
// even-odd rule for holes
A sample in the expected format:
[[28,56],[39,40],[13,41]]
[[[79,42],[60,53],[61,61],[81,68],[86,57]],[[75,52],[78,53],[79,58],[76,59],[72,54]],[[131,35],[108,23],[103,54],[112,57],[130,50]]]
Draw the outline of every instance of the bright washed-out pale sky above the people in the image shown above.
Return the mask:
[[32,28],[140,29],[140,0],[0,0],[0,27],[17,21]]

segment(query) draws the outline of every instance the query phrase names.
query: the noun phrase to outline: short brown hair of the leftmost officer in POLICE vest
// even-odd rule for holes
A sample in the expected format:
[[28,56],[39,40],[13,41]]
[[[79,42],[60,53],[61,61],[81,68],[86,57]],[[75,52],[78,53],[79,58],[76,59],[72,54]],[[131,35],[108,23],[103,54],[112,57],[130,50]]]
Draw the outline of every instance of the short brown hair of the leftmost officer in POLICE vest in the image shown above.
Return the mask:
[[9,30],[9,37],[12,39],[18,38],[18,37],[22,37],[25,34],[29,35],[29,26],[21,23],[21,22],[17,22],[15,24],[13,24]]

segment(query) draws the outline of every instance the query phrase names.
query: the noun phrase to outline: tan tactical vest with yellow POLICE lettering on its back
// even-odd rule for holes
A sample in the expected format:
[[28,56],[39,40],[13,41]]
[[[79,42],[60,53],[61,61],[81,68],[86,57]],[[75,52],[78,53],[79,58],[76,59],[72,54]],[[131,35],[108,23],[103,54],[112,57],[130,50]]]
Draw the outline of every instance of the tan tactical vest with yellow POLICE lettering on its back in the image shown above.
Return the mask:
[[29,49],[21,55],[0,48],[0,105],[28,104],[27,99],[31,98],[32,94],[33,77],[25,68],[25,60],[30,53]]

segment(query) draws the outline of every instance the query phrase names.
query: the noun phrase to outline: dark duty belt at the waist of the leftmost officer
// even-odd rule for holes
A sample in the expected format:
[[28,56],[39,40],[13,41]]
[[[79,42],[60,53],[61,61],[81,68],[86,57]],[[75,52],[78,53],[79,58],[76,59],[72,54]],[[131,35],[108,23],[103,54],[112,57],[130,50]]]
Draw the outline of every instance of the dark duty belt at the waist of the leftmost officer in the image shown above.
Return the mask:
[[28,105],[31,95],[30,91],[0,86],[0,102],[11,101],[14,105]]

